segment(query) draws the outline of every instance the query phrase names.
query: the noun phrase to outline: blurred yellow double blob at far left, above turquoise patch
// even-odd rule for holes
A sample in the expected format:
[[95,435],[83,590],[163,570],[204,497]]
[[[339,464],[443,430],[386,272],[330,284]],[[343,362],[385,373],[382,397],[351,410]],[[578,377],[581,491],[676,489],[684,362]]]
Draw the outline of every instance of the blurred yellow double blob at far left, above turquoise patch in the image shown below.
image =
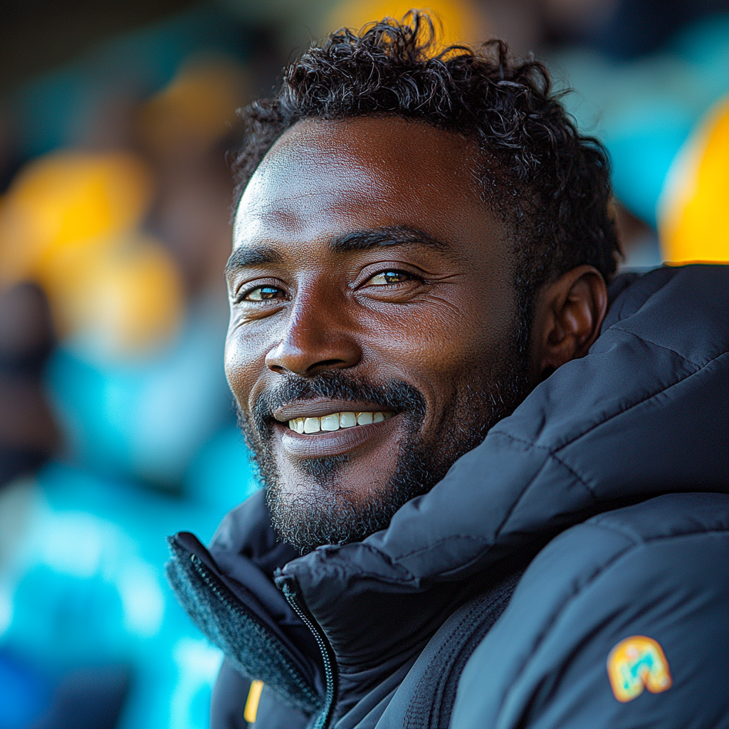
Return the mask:
[[171,255],[140,232],[147,165],[127,152],[58,152],[20,171],[0,205],[0,288],[36,281],[61,338],[114,359],[157,348],[182,318]]

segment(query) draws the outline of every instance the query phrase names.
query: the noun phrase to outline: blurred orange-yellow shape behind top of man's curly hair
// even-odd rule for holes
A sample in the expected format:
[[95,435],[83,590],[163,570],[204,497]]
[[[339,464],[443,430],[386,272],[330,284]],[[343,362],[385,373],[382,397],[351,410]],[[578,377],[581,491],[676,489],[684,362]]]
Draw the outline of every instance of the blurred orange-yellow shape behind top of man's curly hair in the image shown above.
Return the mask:
[[367,23],[385,17],[402,20],[410,9],[432,11],[436,27],[439,21],[443,23],[443,45],[479,43],[488,36],[484,16],[470,0],[430,0],[423,6],[407,0],[346,0],[327,17],[324,33],[337,28],[359,31]]

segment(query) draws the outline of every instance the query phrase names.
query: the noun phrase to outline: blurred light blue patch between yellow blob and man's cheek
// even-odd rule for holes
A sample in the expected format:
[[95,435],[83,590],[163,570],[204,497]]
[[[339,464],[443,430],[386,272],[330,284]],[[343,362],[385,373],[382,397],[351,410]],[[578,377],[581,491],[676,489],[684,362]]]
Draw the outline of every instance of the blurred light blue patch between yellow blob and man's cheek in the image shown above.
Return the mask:
[[59,348],[47,386],[74,460],[106,475],[178,486],[200,447],[233,417],[223,372],[227,312],[192,308],[177,340],[136,362]]

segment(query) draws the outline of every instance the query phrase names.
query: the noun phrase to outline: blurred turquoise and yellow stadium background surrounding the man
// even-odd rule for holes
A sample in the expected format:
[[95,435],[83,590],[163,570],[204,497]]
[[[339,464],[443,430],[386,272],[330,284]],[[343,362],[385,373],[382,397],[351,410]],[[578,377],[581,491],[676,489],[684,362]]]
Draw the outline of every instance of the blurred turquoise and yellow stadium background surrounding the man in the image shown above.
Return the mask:
[[[0,4],[0,729],[204,729],[163,578],[257,488],[222,370],[235,109],[399,0]],[[418,6],[416,6],[418,7]],[[549,64],[622,267],[729,260],[729,0],[432,0]]]

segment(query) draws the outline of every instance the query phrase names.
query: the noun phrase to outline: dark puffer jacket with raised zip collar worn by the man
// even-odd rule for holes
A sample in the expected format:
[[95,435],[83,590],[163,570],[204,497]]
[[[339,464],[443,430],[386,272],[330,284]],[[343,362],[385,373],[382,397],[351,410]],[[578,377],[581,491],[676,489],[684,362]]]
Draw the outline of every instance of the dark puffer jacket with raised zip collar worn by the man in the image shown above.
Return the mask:
[[171,539],[227,655],[214,729],[245,726],[241,674],[257,729],[729,726],[729,268],[611,300],[590,354],[386,531],[297,557],[256,494],[209,553]]

